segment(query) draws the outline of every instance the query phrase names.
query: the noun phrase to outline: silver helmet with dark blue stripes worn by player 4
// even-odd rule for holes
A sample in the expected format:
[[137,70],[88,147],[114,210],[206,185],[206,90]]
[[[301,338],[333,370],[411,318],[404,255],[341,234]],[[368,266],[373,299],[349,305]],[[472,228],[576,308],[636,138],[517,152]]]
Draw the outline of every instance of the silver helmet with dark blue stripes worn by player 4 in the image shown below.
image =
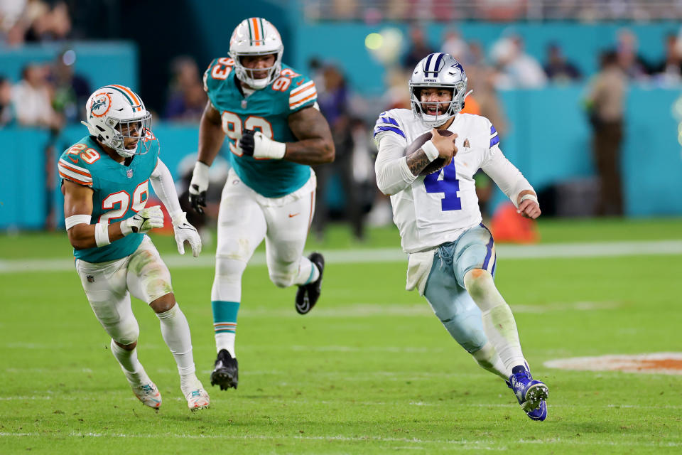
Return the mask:
[[[417,63],[409,82],[412,113],[426,126],[440,127],[455,117],[464,107],[464,99],[471,93],[467,92],[467,73],[462,65],[450,54],[433,53],[427,55]],[[423,105],[431,104],[421,101],[420,90],[423,87],[445,87],[453,90],[453,100],[443,114],[429,115]]]

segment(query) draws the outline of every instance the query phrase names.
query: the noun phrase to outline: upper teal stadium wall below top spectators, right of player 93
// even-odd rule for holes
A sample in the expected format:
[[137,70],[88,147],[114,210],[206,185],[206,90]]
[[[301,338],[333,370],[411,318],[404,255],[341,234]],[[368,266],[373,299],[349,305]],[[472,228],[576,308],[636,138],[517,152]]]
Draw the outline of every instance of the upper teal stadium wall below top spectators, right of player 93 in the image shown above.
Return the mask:
[[[642,56],[650,61],[658,61],[664,57],[664,38],[668,33],[676,34],[680,23],[431,23],[424,27],[424,32],[435,50],[438,50],[445,31],[450,28],[457,29],[466,41],[478,41],[487,50],[505,34],[517,33],[524,38],[526,52],[540,62],[545,59],[546,45],[558,43],[566,58],[574,62],[583,74],[590,75],[597,71],[600,51],[612,48],[618,31],[624,27],[637,36]],[[285,49],[284,61],[298,70],[307,70],[312,57],[332,61],[345,68],[347,79],[355,90],[379,96],[385,88],[384,67],[367,52],[364,39],[369,33],[379,33],[385,28],[397,28],[405,37],[408,36],[408,26],[404,23],[370,26],[364,23],[320,22],[297,26],[291,31],[296,52],[288,53]]]

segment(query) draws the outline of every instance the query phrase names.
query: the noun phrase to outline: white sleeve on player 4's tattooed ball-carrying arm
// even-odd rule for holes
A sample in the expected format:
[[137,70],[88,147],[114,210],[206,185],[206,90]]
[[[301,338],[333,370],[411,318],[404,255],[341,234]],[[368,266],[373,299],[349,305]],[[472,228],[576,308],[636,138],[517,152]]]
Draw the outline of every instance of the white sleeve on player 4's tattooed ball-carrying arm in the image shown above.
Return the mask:
[[374,163],[377,186],[381,193],[392,196],[410,186],[417,176],[413,176],[407,166],[405,144],[394,134],[377,137],[379,154]]

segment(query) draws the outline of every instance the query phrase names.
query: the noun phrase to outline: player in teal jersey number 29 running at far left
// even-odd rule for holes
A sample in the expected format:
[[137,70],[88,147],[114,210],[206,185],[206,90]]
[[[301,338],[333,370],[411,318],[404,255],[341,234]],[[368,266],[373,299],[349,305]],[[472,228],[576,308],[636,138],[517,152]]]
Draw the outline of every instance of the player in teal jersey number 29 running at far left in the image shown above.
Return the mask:
[[146,301],[161,322],[161,335],[180,373],[190,410],[208,407],[209,396],[195,375],[190,327],[171,287],[168,267],[146,234],[163,226],[161,207],[145,207],[148,184],[173,220],[178,252],[185,241],[196,257],[197,230],[180,209],[173,177],[159,159],[151,114],[135,92],[107,85],[87,100],[90,133],[60,157],[66,229],[75,267],[92,311],[111,336],[111,348],[134,394],[158,409],[161,394],[137,358],[139,326],[130,294]]

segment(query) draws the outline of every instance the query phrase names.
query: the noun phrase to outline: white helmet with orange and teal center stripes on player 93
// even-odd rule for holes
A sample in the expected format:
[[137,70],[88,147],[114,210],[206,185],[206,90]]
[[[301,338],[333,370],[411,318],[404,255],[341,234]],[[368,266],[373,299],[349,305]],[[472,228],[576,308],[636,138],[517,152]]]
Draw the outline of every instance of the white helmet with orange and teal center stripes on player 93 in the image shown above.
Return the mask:
[[[234,73],[237,79],[256,90],[270,85],[282,70],[282,53],[284,45],[279,32],[264,18],[251,17],[244,19],[232,32],[229,40],[229,56],[234,60]],[[244,55],[275,54],[275,63],[269,68],[252,70],[242,65]],[[267,71],[266,77],[254,77],[254,72]]]

